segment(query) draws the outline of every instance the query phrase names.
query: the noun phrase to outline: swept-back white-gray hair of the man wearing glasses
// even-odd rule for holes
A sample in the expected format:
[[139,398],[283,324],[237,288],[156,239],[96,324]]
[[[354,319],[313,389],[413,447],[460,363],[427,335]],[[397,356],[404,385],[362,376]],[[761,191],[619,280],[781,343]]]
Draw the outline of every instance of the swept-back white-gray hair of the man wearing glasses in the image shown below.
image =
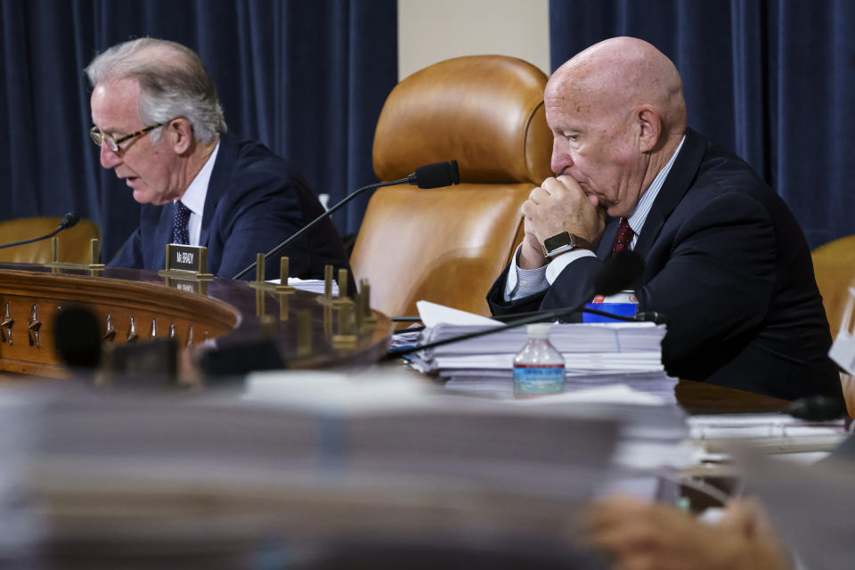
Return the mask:
[[[214,142],[226,130],[216,87],[190,48],[141,37],[113,45],[85,69],[92,86],[133,78],[140,85],[137,114],[148,125],[186,118],[200,142]],[[150,136],[157,140],[159,129]]]

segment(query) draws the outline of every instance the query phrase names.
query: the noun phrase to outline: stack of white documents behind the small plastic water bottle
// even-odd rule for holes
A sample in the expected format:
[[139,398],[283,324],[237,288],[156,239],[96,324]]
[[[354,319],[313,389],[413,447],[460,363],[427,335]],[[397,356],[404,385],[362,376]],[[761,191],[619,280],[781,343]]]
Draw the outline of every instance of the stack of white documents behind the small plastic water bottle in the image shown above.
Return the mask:
[[[419,314],[428,326],[422,344],[501,325],[424,302]],[[564,356],[566,390],[624,384],[673,403],[677,379],[664,372],[664,335],[664,325],[649,322],[553,324],[550,342]],[[526,340],[525,326],[517,327],[422,351],[412,364],[451,389],[510,395],[513,359]]]

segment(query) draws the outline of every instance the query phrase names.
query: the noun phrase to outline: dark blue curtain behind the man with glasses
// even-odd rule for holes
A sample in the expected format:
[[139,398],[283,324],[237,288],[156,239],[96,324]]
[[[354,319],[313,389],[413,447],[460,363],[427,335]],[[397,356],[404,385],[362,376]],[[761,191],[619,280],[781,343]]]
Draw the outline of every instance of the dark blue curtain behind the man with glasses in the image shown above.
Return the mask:
[[[229,130],[290,159],[331,203],[376,180],[374,127],[397,81],[395,0],[2,0],[0,30],[0,219],[77,210],[101,224],[105,256],[136,226],[130,192],[86,134],[83,73],[132,37],[199,53]],[[358,230],[367,199],[335,216],[340,232]]]

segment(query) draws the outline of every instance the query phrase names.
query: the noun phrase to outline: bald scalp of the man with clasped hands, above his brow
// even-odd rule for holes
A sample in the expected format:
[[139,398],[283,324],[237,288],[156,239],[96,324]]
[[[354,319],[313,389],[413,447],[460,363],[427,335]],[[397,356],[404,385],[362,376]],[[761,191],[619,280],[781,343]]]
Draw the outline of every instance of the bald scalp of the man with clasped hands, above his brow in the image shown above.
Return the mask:
[[664,136],[686,130],[680,73],[664,53],[635,37],[613,37],[578,53],[550,77],[545,95],[573,100],[579,112],[615,117],[649,105]]

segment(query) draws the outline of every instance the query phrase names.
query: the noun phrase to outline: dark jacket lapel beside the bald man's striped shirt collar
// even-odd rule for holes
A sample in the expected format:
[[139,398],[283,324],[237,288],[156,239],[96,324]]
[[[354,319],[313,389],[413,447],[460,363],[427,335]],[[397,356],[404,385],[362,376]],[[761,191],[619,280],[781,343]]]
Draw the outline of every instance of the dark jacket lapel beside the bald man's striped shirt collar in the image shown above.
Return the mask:
[[659,194],[653,203],[653,208],[650,208],[644,226],[641,228],[639,240],[635,244],[635,248],[633,248],[641,256],[647,256],[647,251],[649,251],[656,238],[659,237],[659,232],[662,231],[665,220],[668,219],[668,216],[671,216],[674,208],[677,208],[680,200],[686,195],[689,186],[695,180],[697,168],[700,166],[701,160],[704,159],[705,151],[706,140],[704,137],[687,128],[686,141],[683,142],[683,148],[680,149],[680,154],[674,160],[671,172],[665,178],[665,183],[659,190]]

